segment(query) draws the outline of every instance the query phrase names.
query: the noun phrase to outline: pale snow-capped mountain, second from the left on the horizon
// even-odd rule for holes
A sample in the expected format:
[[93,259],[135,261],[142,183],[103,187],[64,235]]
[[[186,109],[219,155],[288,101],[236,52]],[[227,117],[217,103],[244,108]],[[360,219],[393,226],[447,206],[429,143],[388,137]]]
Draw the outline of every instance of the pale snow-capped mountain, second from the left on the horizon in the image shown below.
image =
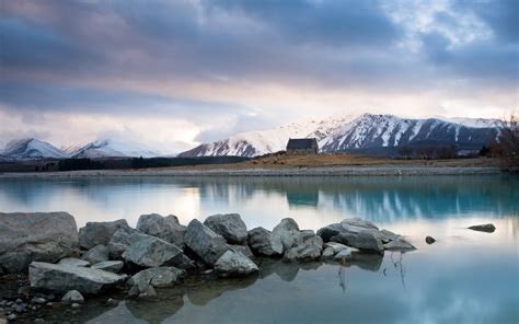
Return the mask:
[[96,140],[84,146],[73,144],[64,148],[64,151],[72,158],[88,159],[129,157],[152,158],[160,155],[160,153],[146,148],[145,146],[114,139]]

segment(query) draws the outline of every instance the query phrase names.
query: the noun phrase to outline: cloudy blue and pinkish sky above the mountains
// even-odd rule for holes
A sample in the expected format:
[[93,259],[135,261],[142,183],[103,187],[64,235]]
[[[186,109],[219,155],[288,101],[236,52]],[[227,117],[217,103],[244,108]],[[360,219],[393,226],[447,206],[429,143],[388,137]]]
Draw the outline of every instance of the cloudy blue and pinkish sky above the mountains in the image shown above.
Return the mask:
[[3,0],[0,146],[163,153],[341,114],[500,118],[516,0]]

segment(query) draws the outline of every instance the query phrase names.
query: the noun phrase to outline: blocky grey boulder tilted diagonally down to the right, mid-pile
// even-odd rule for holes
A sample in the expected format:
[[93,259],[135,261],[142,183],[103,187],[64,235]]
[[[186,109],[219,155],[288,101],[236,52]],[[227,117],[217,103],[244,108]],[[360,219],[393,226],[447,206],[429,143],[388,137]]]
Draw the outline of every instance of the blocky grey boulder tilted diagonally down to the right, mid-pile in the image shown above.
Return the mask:
[[223,236],[218,235],[197,219],[192,220],[187,225],[184,240],[185,244],[208,265],[214,265],[230,248]]

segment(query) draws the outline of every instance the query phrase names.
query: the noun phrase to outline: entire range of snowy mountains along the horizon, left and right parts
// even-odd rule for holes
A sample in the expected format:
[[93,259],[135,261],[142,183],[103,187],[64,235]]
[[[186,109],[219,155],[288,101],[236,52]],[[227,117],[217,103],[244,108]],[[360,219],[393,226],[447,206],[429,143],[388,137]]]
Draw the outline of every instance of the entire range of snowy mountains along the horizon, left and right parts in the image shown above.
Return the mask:
[[[498,136],[497,119],[483,118],[401,118],[394,115],[338,115],[321,120],[290,123],[266,130],[233,135],[203,143],[178,157],[257,157],[285,150],[290,138],[316,138],[321,152],[360,152],[395,155],[402,147],[455,146],[458,150],[478,150]],[[9,142],[0,160],[143,157],[161,154],[130,141],[103,139],[86,144],[56,148],[36,138]]]

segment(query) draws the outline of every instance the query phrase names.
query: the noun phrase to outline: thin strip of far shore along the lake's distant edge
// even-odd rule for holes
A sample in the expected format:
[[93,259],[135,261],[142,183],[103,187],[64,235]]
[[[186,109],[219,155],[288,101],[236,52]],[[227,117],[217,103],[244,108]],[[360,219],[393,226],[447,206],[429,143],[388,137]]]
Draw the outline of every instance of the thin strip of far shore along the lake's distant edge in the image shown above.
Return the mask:
[[84,170],[64,172],[0,173],[0,178],[14,177],[86,177],[86,176],[417,176],[417,175],[491,175],[504,174],[496,166],[321,166],[280,169],[145,169]]

